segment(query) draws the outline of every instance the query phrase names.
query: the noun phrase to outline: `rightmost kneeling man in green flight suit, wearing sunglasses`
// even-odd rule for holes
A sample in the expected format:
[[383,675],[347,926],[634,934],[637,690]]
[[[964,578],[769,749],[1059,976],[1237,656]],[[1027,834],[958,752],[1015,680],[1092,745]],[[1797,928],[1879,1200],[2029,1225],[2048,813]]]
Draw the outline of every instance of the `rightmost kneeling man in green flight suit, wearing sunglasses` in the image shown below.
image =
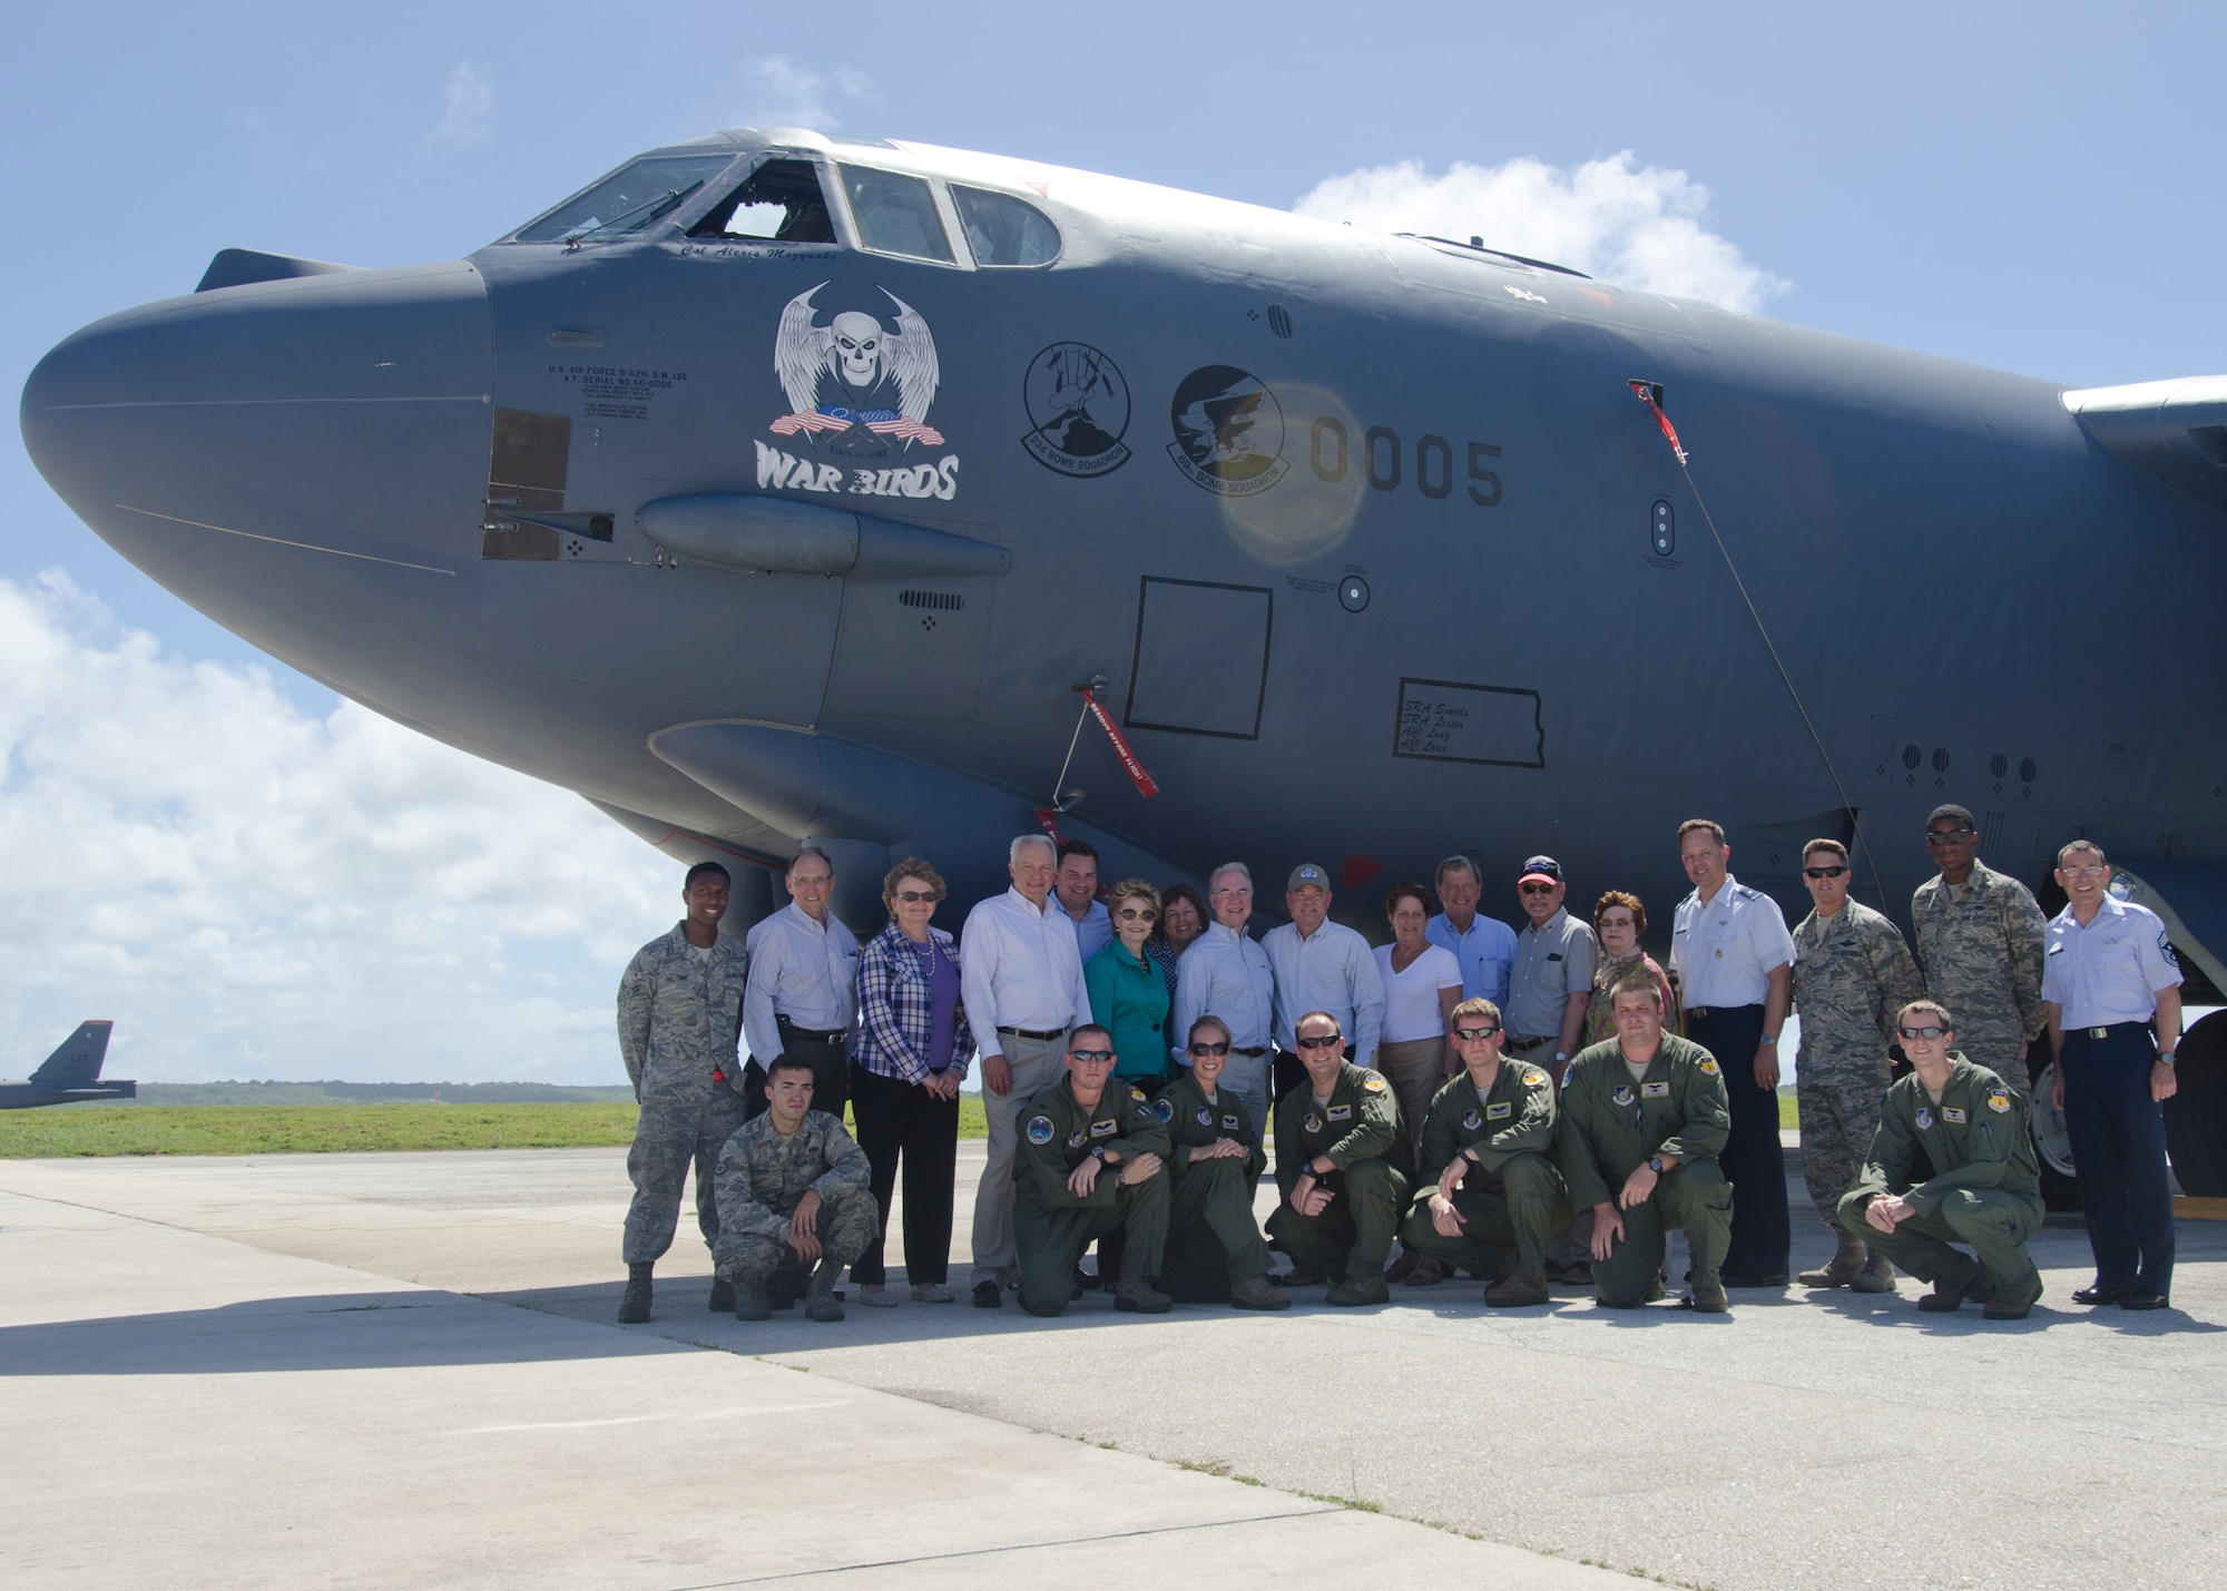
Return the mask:
[[[1886,1090],[1871,1159],[1840,1201],[1840,1223],[1933,1283],[1922,1310],[1986,1304],[2018,1321],[2042,1297],[2027,1239],[2042,1228],[2042,1172],[2027,1136],[2027,1099],[1949,1045],[1949,1012],[1911,1001],[1895,1018],[1915,1072]],[[1911,1183],[1924,1148],[1933,1177]],[[1971,1243],[1966,1255],[1951,1243]]]

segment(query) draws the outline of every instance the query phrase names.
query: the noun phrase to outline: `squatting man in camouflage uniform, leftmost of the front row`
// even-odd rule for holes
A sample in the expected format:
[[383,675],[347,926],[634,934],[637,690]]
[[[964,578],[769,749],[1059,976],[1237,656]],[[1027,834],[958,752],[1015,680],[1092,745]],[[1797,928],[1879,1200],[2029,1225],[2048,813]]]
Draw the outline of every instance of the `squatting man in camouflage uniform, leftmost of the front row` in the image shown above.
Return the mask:
[[713,1255],[735,1288],[735,1319],[773,1319],[766,1292],[775,1275],[813,1266],[804,1315],[840,1321],[835,1281],[873,1241],[880,1210],[866,1150],[840,1116],[813,1110],[808,1058],[775,1058],[766,1114],[742,1123],[719,1150],[717,1190]]

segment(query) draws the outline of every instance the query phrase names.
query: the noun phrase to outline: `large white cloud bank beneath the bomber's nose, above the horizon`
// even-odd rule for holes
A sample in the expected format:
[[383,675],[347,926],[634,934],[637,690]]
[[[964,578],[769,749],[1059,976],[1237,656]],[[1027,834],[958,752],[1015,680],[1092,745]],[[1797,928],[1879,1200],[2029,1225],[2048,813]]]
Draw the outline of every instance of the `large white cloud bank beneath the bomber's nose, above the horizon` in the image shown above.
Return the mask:
[[0,1074],[619,1083],[679,876],[577,796],[0,579]]

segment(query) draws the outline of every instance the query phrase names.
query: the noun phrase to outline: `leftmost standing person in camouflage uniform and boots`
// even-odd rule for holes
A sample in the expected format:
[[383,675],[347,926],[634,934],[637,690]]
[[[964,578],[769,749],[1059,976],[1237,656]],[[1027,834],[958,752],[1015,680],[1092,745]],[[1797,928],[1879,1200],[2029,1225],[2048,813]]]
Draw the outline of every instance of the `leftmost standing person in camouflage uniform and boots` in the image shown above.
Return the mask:
[[[750,969],[748,951],[719,931],[728,885],[717,862],[690,867],[681,882],[688,916],[635,951],[619,978],[619,1056],[641,1101],[635,1148],[626,1152],[635,1201],[626,1210],[621,1326],[650,1317],[650,1268],[673,1248],[690,1163],[697,1174],[697,1230],[713,1248],[719,1241],[710,1170],[744,1116],[735,1038],[742,1034],[742,994]],[[710,1306],[726,1310],[733,1304],[728,1286],[715,1279]]]

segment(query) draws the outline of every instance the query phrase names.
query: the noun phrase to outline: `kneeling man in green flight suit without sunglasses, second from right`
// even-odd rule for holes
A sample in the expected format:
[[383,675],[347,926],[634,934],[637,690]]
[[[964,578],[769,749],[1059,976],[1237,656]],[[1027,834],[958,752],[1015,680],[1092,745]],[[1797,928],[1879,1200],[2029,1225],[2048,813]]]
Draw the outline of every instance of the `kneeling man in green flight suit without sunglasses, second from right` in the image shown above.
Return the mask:
[[1733,1130],[1717,1058],[1664,1032],[1655,978],[1610,989],[1617,1036],[1581,1050],[1563,1083],[1554,1148],[1570,1199],[1592,1206],[1592,1283],[1628,1310],[1657,1292],[1664,1230],[1686,1232],[1693,1292],[1684,1308],[1724,1315],[1719,1268],[1733,1237],[1733,1188],[1717,1152]]

